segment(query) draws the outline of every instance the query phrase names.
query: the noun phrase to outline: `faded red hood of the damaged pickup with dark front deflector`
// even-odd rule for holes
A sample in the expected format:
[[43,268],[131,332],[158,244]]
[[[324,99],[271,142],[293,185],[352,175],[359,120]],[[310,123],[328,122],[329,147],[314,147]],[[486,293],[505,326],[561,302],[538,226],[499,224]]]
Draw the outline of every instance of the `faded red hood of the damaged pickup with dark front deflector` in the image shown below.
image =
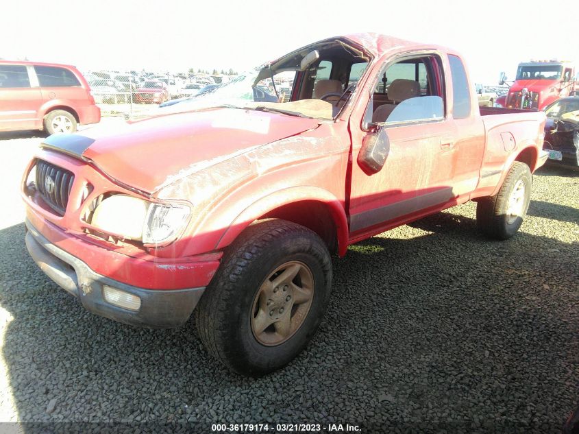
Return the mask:
[[237,108],[168,114],[99,134],[49,136],[49,149],[88,159],[114,180],[154,193],[251,149],[316,128],[317,119]]

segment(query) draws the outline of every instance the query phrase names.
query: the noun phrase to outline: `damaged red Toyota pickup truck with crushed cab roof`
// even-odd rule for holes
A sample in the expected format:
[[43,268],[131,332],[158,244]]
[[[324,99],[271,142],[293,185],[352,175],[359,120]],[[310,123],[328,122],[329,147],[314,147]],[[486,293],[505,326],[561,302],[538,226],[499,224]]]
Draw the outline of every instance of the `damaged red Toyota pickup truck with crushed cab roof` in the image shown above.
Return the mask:
[[469,200],[508,239],[547,157],[543,112],[479,108],[458,53],[376,34],[321,40],[171,110],[46,138],[23,176],[27,248],[99,315],[172,327],[196,309],[207,350],[247,375],[314,335],[330,255]]

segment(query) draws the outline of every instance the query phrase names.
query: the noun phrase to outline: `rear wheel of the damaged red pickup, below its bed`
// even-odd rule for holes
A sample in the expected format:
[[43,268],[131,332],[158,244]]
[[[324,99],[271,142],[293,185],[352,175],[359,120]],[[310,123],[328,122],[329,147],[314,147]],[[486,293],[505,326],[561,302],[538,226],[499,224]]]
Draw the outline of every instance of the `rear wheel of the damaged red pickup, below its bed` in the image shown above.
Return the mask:
[[531,184],[528,165],[519,161],[513,162],[499,193],[486,197],[477,204],[476,221],[482,232],[498,240],[513,237],[527,214]]

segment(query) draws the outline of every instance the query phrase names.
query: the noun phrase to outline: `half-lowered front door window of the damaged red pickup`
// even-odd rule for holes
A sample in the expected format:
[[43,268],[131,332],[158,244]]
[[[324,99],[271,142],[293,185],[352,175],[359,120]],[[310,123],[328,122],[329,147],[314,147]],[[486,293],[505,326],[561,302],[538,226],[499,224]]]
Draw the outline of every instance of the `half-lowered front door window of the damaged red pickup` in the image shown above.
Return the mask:
[[[438,56],[406,58],[378,75],[371,103],[372,123],[386,126],[436,121],[444,117],[441,61]],[[368,119],[367,114],[365,119]]]

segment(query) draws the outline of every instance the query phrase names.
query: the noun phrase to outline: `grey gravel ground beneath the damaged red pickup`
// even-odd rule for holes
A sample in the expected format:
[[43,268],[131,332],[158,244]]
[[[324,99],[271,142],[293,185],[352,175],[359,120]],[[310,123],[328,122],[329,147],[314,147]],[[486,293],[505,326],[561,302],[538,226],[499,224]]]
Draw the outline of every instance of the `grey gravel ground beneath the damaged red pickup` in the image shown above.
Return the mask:
[[[24,165],[37,143],[0,136],[3,182],[21,171],[5,156]],[[309,422],[560,433],[579,396],[578,197],[579,173],[547,167],[514,239],[484,239],[465,204],[352,246],[334,260],[312,343],[258,379],[212,361],[193,322],[145,330],[85,312],[29,258],[10,202],[0,228],[0,420],[80,432],[112,429],[106,422],[206,433],[215,422]]]

